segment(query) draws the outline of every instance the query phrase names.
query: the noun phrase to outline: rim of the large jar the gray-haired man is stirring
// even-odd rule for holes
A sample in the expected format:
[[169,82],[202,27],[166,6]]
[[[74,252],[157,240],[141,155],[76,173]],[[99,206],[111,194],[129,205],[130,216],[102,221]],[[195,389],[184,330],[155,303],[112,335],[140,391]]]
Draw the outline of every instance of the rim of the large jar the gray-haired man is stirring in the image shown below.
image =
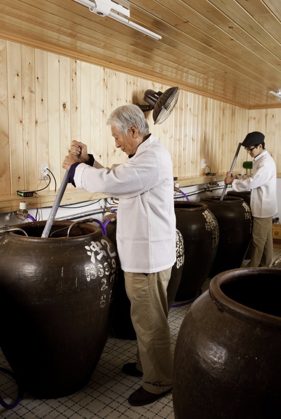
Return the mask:
[[[36,227],[36,228],[42,227],[42,228],[44,228],[45,224],[46,224],[45,221],[36,221],[36,222],[32,222],[32,223],[16,224],[16,225],[10,226],[10,227],[11,228],[12,227],[18,227],[18,228],[21,228],[22,230],[26,231],[25,228],[27,230],[31,229],[32,227]],[[69,227],[72,224],[73,224],[73,222],[71,222],[71,221],[59,221],[59,220],[58,221],[55,220],[54,223],[53,223],[54,226],[65,227],[66,232],[67,232],[66,227]],[[87,229],[89,230],[89,232],[87,234],[83,234],[82,236],[69,236],[69,237],[66,237],[66,236],[65,237],[26,236],[25,234],[16,234],[16,232],[9,231],[9,230],[6,231],[5,235],[8,235],[9,238],[12,239],[12,240],[25,241],[25,242],[26,241],[40,241],[41,243],[46,242],[46,240],[48,240],[48,243],[51,243],[52,241],[53,242],[58,242],[58,241],[61,241],[61,240],[63,240],[63,241],[69,241],[69,240],[74,241],[75,239],[79,241],[79,240],[84,240],[86,237],[91,237],[93,239],[97,239],[98,237],[100,237],[102,235],[102,230],[98,226],[93,226],[91,224],[84,223],[84,222],[81,222],[79,224],[80,227],[84,226],[84,228],[85,228],[85,225],[87,226]],[[24,228],[22,228],[22,227],[24,227]],[[43,232],[43,230],[42,230],[42,232]]]

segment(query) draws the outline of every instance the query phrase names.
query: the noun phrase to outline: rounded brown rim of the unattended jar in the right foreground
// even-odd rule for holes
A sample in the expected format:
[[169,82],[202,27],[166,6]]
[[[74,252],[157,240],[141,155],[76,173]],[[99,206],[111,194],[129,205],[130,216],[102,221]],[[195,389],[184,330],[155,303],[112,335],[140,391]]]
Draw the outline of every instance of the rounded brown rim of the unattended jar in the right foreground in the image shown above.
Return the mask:
[[238,268],[221,272],[216,275],[209,284],[209,294],[214,303],[224,312],[239,317],[251,323],[257,323],[261,326],[278,329],[281,331],[281,317],[263,313],[254,308],[247,307],[239,302],[227,297],[221,290],[221,285],[233,280],[240,279],[243,275],[251,276],[257,273],[272,273],[281,276],[281,268]]

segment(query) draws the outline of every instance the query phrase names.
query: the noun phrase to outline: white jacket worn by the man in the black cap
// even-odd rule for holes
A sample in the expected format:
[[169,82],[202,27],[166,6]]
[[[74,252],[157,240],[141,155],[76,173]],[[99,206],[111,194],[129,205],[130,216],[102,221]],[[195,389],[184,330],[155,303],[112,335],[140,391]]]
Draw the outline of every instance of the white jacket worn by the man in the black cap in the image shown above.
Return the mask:
[[267,150],[254,158],[252,174],[238,175],[238,179],[232,182],[232,188],[238,192],[251,190],[253,217],[273,217],[278,212],[276,166]]

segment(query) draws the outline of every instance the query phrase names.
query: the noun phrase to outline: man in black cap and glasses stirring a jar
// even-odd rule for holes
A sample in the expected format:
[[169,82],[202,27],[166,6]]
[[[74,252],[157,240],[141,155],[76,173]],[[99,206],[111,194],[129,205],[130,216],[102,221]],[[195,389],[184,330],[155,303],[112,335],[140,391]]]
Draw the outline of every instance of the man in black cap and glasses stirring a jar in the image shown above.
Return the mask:
[[247,134],[242,145],[253,160],[251,174],[227,172],[224,183],[238,192],[251,191],[253,216],[252,255],[248,267],[270,266],[273,257],[272,217],[278,212],[276,166],[265,148],[265,136],[259,131]]

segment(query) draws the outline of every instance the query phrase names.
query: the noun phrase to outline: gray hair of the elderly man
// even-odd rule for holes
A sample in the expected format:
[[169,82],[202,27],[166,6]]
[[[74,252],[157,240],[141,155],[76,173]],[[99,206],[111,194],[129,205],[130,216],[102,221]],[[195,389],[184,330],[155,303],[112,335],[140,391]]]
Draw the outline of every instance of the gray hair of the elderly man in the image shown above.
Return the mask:
[[143,137],[149,134],[149,126],[143,111],[137,105],[124,105],[116,108],[108,118],[107,125],[114,125],[120,133],[127,135],[128,129],[135,125]]

